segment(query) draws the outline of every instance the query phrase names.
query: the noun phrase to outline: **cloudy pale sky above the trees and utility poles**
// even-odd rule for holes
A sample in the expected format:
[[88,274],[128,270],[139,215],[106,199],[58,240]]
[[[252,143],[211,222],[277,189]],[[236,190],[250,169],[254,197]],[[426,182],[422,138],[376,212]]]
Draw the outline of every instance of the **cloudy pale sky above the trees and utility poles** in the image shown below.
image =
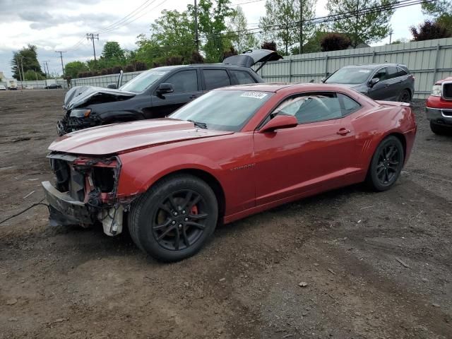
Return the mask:
[[[256,27],[265,15],[265,0],[232,0],[241,4],[248,25]],[[136,37],[149,34],[150,23],[163,9],[184,11],[194,0],[0,0],[0,71],[11,77],[13,51],[35,44],[42,65],[47,61],[50,73],[61,74],[59,54],[66,51],[64,64],[93,59],[93,44],[85,37],[99,32],[95,40],[96,55],[107,41],[117,41],[125,49],[136,48]],[[136,10],[136,11],[135,11]],[[127,17],[131,13],[131,16]],[[318,0],[316,16],[326,16],[326,0]],[[126,17],[124,19],[124,17]],[[122,20],[122,21],[120,21]],[[410,38],[408,28],[424,20],[420,5],[399,8],[391,19],[393,40]],[[112,29],[112,24],[120,26]],[[114,28],[114,27],[113,27]],[[387,43],[387,37],[379,44]]]

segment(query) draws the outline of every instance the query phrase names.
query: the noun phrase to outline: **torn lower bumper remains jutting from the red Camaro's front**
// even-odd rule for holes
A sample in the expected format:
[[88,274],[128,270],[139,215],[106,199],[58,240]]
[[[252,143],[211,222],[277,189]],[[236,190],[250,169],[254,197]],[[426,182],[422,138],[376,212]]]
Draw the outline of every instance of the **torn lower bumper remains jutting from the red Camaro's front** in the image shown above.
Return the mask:
[[82,201],[74,200],[69,194],[58,191],[50,182],[42,182],[44,195],[50,205],[49,222],[57,225],[91,225],[95,215]]

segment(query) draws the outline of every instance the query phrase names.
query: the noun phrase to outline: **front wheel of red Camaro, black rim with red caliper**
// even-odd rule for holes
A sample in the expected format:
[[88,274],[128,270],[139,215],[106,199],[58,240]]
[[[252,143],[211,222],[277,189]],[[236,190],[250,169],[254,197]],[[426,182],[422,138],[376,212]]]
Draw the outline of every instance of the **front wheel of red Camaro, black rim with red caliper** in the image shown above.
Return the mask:
[[179,261],[208,242],[218,220],[213,190],[198,177],[175,174],[160,180],[131,206],[133,242],[160,261]]

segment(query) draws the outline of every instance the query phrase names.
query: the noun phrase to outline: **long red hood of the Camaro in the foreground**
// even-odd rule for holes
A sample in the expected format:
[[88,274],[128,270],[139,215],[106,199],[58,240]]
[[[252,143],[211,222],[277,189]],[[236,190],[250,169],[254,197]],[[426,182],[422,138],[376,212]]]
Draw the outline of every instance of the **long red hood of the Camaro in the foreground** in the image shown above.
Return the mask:
[[97,126],[61,136],[49,150],[83,155],[124,153],[162,143],[232,134],[198,129],[190,121],[164,118]]

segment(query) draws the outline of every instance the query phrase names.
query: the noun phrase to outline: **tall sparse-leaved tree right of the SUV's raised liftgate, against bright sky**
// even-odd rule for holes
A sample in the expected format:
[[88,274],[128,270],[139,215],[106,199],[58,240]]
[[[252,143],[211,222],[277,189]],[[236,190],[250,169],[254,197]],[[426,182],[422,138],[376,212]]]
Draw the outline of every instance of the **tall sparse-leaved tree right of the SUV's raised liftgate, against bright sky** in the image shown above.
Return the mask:
[[283,46],[280,52],[285,55],[295,45],[303,52],[303,45],[314,31],[309,20],[314,18],[315,6],[316,0],[267,0],[266,15],[259,20],[264,40],[273,40]]

